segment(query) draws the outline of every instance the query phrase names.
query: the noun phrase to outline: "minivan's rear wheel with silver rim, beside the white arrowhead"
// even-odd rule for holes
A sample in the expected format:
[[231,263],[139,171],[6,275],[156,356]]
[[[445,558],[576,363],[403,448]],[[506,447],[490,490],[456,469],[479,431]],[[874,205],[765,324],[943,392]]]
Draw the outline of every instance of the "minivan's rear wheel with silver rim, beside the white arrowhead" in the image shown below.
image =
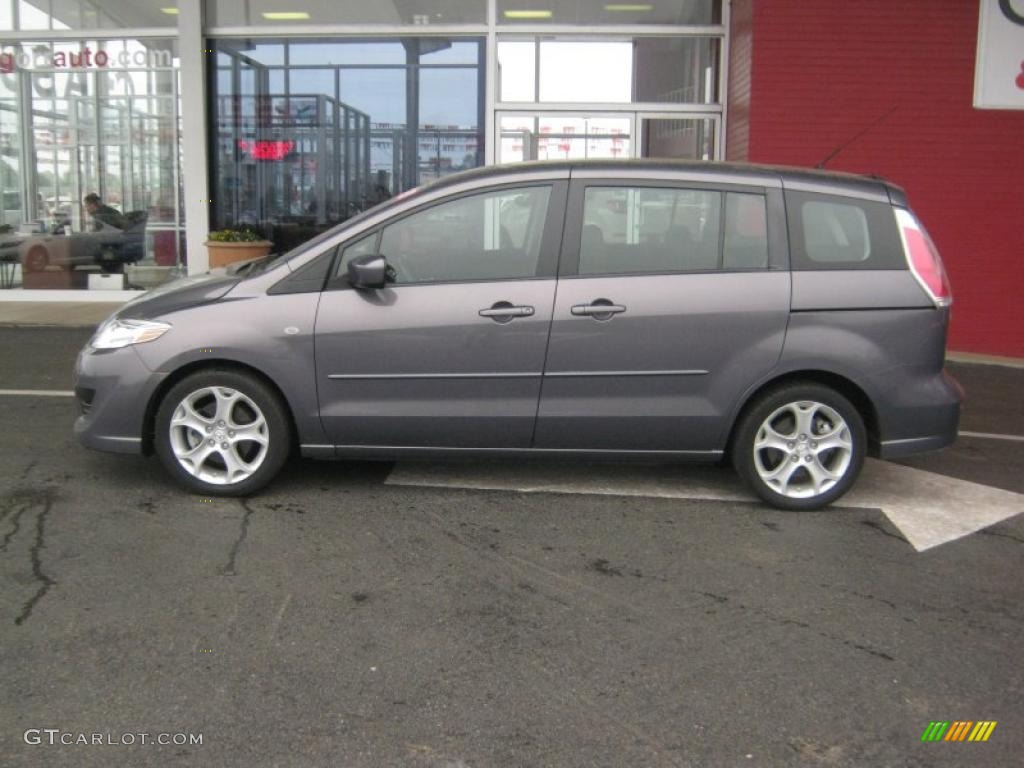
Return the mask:
[[[824,408],[812,409],[809,403]],[[833,423],[834,418],[829,416],[829,412],[842,418],[848,433],[844,433],[840,425]],[[813,423],[806,435],[797,429],[798,414],[810,414],[808,418]],[[767,431],[766,422],[769,418],[773,418],[772,427],[785,428],[790,423],[787,420],[793,423],[794,439],[785,440],[780,450],[768,444],[756,449],[759,435],[765,439],[774,438]],[[766,428],[764,434],[762,427]],[[819,431],[821,429],[825,431]],[[830,431],[838,434],[835,441],[842,440],[842,446],[819,449],[818,441],[814,438],[823,437]],[[780,429],[775,432],[780,436],[788,434],[782,433]],[[831,440],[828,442],[830,444]],[[746,485],[771,506],[786,510],[815,510],[831,504],[850,489],[864,465],[866,451],[867,435],[863,419],[846,397],[821,384],[797,382],[765,392],[745,409],[736,425],[731,455],[732,465]],[[791,466],[792,469],[786,474],[786,468]],[[762,476],[762,472],[771,476],[776,471],[786,475],[786,485],[791,480],[794,481],[792,488],[783,488],[788,493],[780,493]],[[815,485],[815,474],[819,479],[827,477],[822,482],[820,492]],[[838,477],[833,479],[833,475]],[[781,479],[778,481],[782,482]],[[824,486],[825,483],[829,483],[827,487]]]

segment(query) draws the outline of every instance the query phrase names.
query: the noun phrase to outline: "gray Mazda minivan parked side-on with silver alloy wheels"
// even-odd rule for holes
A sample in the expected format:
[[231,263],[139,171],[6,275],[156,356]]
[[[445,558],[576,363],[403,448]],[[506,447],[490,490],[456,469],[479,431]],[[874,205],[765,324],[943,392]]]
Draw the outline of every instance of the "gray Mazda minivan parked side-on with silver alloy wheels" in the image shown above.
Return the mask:
[[731,459],[815,509],[940,449],[950,290],[886,181],[493,167],[126,304],[79,355],[82,442],[243,496],[317,458]]

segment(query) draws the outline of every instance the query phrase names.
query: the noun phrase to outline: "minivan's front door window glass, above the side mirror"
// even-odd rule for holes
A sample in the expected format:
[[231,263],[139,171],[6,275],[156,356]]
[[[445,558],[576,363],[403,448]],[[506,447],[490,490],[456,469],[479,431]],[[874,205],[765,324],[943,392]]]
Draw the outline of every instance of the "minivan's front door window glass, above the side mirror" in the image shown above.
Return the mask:
[[386,227],[380,252],[396,284],[532,278],[550,194],[516,187],[432,206]]

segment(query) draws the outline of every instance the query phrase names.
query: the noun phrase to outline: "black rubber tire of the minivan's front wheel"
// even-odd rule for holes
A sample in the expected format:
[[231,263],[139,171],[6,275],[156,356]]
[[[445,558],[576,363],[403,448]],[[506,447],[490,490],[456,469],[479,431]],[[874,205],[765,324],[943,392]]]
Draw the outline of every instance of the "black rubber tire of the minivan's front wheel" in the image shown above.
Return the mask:
[[[175,440],[180,445],[183,439],[187,438],[188,440],[194,440],[200,435],[199,430],[189,431],[182,429],[181,427],[176,427],[175,434],[172,437],[171,420],[174,417],[175,412],[177,412],[178,407],[183,400],[185,400],[186,397],[194,396],[202,390],[213,387],[223,388],[225,391],[228,389],[234,390],[236,392],[241,393],[244,398],[248,398],[251,403],[255,404],[258,412],[254,412],[245,400],[240,400],[239,406],[232,406],[232,408],[241,408],[244,412],[248,412],[249,414],[261,413],[265,422],[267,438],[265,454],[263,455],[262,461],[258,464],[258,467],[245,478],[240,478],[233,481],[230,480],[227,465],[223,458],[225,454],[218,451],[216,447],[212,451],[215,452],[217,456],[213,456],[211,453],[210,459],[201,465],[200,471],[201,473],[211,476],[213,473],[218,471],[217,465],[219,463],[224,467],[222,472],[224,477],[220,481],[208,481],[203,477],[193,474],[193,471],[186,469],[175,455]],[[207,396],[213,397],[212,394]],[[204,402],[202,397],[198,401],[201,403]],[[216,406],[215,399],[211,404]],[[207,407],[207,409],[208,413],[209,408]],[[211,422],[211,426],[216,430],[216,421]],[[239,429],[244,428],[245,425],[239,427]],[[210,434],[208,436],[210,438],[215,438],[216,434],[219,433]],[[233,432],[231,434],[233,437]],[[196,442],[197,450],[201,446],[201,443],[205,441],[206,437],[207,435],[203,435],[198,439]],[[226,445],[227,443],[225,442],[222,444]],[[238,449],[240,452],[252,452],[255,450],[258,453],[260,450],[260,446],[255,442],[247,441],[239,442],[238,444],[243,445],[242,449]],[[171,387],[161,400],[160,407],[157,410],[156,435],[154,438],[154,449],[157,456],[160,457],[160,461],[164,465],[164,468],[180,485],[194,493],[203,494],[204,496],[236,497],[249,496],[256,493],[270,482],[278,472],[281,471],[282,466],[284,466],[289,454],[291,453],[291,447],[292,432],[290,421],[288,418],[288,412],[285,404],[282,402],[281,397],[261,379],[242,371],[230,369],[210,369],[190,374]]]

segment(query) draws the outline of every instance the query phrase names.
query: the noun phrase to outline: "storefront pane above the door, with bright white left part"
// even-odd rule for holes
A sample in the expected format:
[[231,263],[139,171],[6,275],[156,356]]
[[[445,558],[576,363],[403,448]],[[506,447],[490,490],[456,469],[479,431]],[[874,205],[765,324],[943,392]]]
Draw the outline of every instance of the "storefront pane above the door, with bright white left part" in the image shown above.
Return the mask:
[[714,37],[500,40],[499,100],[713,103],[720,46]]

